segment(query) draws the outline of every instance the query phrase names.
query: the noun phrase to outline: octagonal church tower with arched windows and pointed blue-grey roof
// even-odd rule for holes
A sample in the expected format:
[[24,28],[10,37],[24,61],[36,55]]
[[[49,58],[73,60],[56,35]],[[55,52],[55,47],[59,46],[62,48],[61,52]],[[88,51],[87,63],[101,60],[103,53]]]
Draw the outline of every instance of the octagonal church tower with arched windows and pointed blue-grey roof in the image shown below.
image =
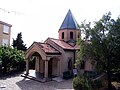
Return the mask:
[[80,37],[81,34],[78,24],[71,10],[68,11],[58,33],[60,40],[64,40],[72,46],[76,44],[77,39]]

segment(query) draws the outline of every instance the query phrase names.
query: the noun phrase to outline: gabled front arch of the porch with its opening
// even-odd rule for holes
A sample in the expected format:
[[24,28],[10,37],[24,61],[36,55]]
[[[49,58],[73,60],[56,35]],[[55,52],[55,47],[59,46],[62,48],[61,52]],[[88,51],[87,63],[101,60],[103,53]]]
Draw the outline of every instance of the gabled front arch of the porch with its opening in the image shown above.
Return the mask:
[[[26,57],[26,74],[34,77],[42,77],[44,78],[45,74],[45,60],[46,60],[46,54],[45,52],[38,47],[36,44],[33,44],[25,53]],[[34,57],[34,69],[30,70],[30,60],[31,58]],[[32,74],[33,72],[34,74]]]

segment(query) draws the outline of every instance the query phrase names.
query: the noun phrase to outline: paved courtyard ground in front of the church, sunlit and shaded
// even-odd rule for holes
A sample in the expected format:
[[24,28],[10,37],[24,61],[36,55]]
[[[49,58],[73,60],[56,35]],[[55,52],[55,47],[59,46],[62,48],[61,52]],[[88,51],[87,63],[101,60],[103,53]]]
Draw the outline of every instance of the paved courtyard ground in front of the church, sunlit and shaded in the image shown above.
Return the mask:
[[24,79],[19,75],[0,78],[0,90],[73,90],[72,80],[62,82],[50,81],[40,83],[30,79]]

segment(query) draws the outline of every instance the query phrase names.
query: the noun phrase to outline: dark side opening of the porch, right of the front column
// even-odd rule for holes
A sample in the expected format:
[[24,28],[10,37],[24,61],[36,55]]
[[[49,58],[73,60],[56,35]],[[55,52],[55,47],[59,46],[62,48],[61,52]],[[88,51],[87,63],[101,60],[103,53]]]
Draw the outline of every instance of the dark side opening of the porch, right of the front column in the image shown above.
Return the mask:
[[57,57],[52,57],[48,61],[48,76],[49,77],[56,77],[59,76],[59,69],[60,69],[60,60]]

